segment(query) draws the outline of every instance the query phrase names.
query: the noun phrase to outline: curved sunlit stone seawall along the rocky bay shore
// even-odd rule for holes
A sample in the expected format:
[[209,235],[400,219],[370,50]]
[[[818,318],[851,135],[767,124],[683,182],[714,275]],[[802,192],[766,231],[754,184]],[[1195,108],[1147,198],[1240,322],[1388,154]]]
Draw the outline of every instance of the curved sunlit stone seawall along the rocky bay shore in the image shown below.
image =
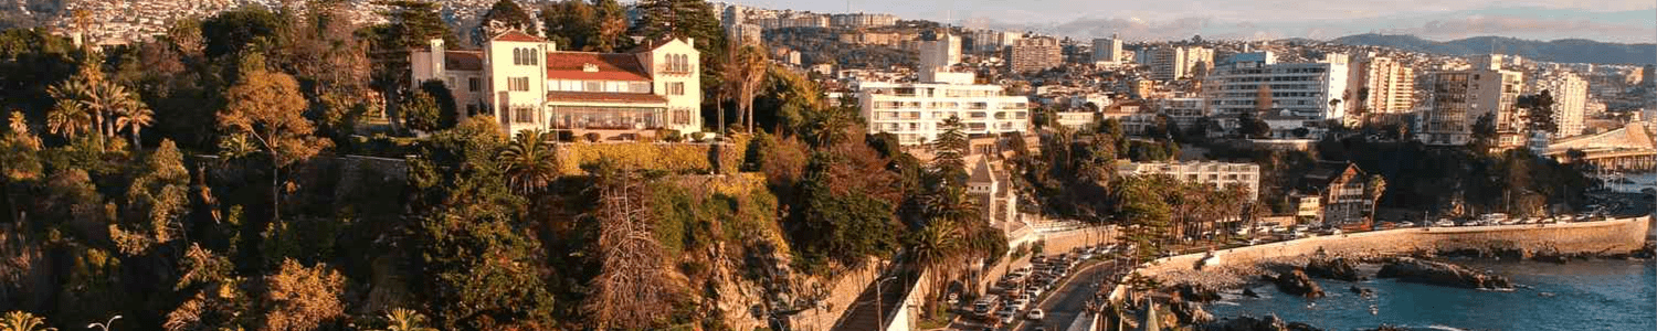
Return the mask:
[[[1215,250],[1210,266],[1251,266],[1263,260],[1314,255],[1319,250],[1339,255],[1407,255],[1413,252],[1524,248],[1559,253],[1627,253],[1645,245],[1652,217],[1611,218],[1579,223],[1498,225],[1498,227],[1427,227],[1326,235],[1278,243]],[[1195,270],[1206,253],[1160,258],[1138,270],[1155,276],[1168,271]]]

